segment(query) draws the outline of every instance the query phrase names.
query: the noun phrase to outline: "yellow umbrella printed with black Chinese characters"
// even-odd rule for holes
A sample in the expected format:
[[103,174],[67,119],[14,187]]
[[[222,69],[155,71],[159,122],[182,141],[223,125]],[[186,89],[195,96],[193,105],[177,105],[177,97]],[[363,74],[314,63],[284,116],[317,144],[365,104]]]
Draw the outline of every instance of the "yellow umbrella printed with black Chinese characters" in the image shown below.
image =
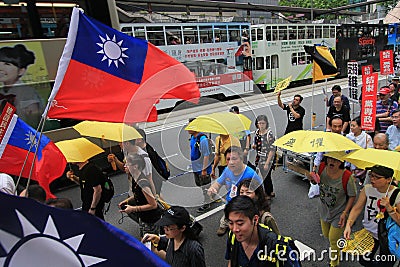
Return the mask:
[[343,135],[322,131],[294,131],[285,134],[274,145],[296,153],[329,152],[361,149]]

